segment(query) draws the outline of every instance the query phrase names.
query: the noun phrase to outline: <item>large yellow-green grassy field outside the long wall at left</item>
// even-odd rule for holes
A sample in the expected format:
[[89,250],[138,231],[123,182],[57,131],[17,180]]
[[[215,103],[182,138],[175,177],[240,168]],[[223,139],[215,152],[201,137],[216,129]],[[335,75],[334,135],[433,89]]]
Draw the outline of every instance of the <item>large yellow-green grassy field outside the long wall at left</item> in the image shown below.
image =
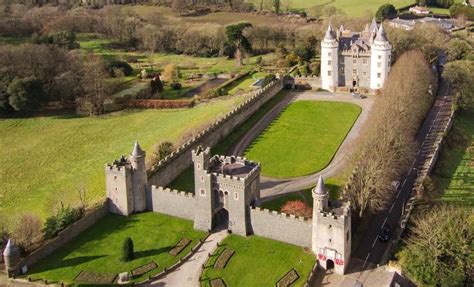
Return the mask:
[[[177,142],[242,103],[226,97],[184,110],[123,111],[99,117],[74,115],[0,120],[0,215],[51,215],[58,201],[89,202],[105,196],[104,164],[129,154],[134,140],[152,153],[163,140]],[[9,215],[7,217],[7,214]]]

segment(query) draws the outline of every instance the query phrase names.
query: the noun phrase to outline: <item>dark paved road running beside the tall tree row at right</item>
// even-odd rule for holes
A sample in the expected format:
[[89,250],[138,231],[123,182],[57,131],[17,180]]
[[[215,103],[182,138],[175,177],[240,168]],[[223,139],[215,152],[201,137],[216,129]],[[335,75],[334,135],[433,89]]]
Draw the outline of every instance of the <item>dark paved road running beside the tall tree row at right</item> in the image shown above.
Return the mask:
[[[417,177],[417,170],[420,170],[423,163],[430,158],[434,139],[441,132],[451,112],[451,101],[447,85],[443,82],[440,86],[438,97],[416,136],[416,141],[420,144],[421,148],[414,158],[409,172],[402,179],[400,190],[389,208],[376,216],[372,216],[369,229],[362,237],[364,241],[360,243],[352,257],[364,260],[366,264],[381,263],[382,257],[387,251],[388,243],[378,241],[377,235],[385,224],[388,224],[392,231],[399,224],[403,206],[410,198],[411,190]],[[364,267],[367,268],[367,266]]]

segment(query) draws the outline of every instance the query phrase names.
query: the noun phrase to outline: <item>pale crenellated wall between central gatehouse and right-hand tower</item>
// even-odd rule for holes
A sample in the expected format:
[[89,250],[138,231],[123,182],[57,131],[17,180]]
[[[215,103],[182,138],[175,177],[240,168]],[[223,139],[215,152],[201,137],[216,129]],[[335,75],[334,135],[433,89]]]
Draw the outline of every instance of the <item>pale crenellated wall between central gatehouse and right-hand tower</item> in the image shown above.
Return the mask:
[[253,234],[311,248],[313,222],[259,207],[250,211]]

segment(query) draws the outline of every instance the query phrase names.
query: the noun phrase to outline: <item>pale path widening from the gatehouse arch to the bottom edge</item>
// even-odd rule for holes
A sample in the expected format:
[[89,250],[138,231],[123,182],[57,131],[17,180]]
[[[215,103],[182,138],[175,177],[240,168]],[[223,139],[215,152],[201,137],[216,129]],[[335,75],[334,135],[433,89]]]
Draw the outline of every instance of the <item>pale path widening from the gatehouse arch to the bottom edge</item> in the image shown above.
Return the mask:
[[216,249],[217,243],[226,236],[227,230],[225,229],[212,233],[183,265],[159,280],[143,286],[198,287],[201,266],[206,262],[207,255],[212,253]]

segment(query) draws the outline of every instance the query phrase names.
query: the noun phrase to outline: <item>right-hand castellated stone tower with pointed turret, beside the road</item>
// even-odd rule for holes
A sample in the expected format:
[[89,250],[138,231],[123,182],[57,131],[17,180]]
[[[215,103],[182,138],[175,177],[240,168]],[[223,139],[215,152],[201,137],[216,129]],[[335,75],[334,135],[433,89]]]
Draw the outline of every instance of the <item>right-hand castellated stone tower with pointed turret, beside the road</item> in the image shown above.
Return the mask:
[[351,211],[347,203],[329,201],[319,177],[313,194],[312,249],[324,269],[344,274],[351,256]]

